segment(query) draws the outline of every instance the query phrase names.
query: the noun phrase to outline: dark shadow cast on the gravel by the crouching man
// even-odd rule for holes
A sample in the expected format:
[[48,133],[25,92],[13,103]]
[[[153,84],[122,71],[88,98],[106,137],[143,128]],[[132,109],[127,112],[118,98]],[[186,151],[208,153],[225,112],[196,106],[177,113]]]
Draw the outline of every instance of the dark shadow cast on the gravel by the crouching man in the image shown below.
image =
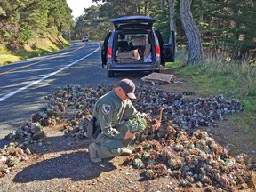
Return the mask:
[[89,160],[89,153],[79,151],[32,164],[17,173],[13,181],[26,183],[54,178],[70,178],[75,181],[90,180],[100,176],[101,172],[109,172],[114,169],[116,166],[109,162],[92,164]]

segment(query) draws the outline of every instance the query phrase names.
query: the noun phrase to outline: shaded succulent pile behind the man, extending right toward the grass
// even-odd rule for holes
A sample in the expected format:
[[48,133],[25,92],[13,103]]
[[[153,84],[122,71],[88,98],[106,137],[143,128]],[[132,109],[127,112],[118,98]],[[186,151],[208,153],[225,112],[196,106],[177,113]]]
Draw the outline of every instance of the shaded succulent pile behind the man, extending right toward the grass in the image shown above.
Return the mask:
[[164,105],[163,121],[172,120],[176,127],[183,129],[216,124],[217,120],[243,109],[239,101],[227,100],[223,95],[209,99],[196,98],[195,95],[189,98],[189,92],[183,94],[164,92],[157,88],[141,88],[136,92],[138,100],[135,101],[135,107],[139,111],[156,117],[160,106]]

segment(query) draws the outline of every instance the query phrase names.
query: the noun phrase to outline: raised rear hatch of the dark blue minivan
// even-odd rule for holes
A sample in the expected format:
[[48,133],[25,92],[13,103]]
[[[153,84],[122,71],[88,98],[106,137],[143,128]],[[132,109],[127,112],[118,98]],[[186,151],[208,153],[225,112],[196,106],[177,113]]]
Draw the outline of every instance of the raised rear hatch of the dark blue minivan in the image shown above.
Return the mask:
[[125,16],[111,20],[115,30],[151,29],[156,18],[147,16]]

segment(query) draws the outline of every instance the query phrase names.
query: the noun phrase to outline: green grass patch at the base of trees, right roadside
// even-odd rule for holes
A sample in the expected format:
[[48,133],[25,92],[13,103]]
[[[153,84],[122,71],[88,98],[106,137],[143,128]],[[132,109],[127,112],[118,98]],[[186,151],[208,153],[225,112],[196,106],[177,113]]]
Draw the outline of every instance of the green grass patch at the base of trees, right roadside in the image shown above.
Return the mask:
[[256,137],[256,68],[244,61],[242,64],[222,63],[218,60],[205,59],[197,65],[181,68],[186,62],[188,52],[179,51],[175,63],[168,63],[185,79],[196,92],[204,97],[223,94],[228,99],[242,102],[244,113],[248,116],[231,116],[234,122],[241,124],[244,132]]

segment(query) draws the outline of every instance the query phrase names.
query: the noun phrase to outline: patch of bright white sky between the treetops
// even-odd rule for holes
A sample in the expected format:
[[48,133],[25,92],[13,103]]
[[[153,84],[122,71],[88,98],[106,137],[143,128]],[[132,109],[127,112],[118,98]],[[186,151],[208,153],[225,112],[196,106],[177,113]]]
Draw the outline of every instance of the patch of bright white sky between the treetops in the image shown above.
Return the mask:
[[[92,0],[67,0],[68,6],[72,9],[74,19],[84,14],[84,7],[92,6]],[[93,3],[95,4],[95,3]]]

